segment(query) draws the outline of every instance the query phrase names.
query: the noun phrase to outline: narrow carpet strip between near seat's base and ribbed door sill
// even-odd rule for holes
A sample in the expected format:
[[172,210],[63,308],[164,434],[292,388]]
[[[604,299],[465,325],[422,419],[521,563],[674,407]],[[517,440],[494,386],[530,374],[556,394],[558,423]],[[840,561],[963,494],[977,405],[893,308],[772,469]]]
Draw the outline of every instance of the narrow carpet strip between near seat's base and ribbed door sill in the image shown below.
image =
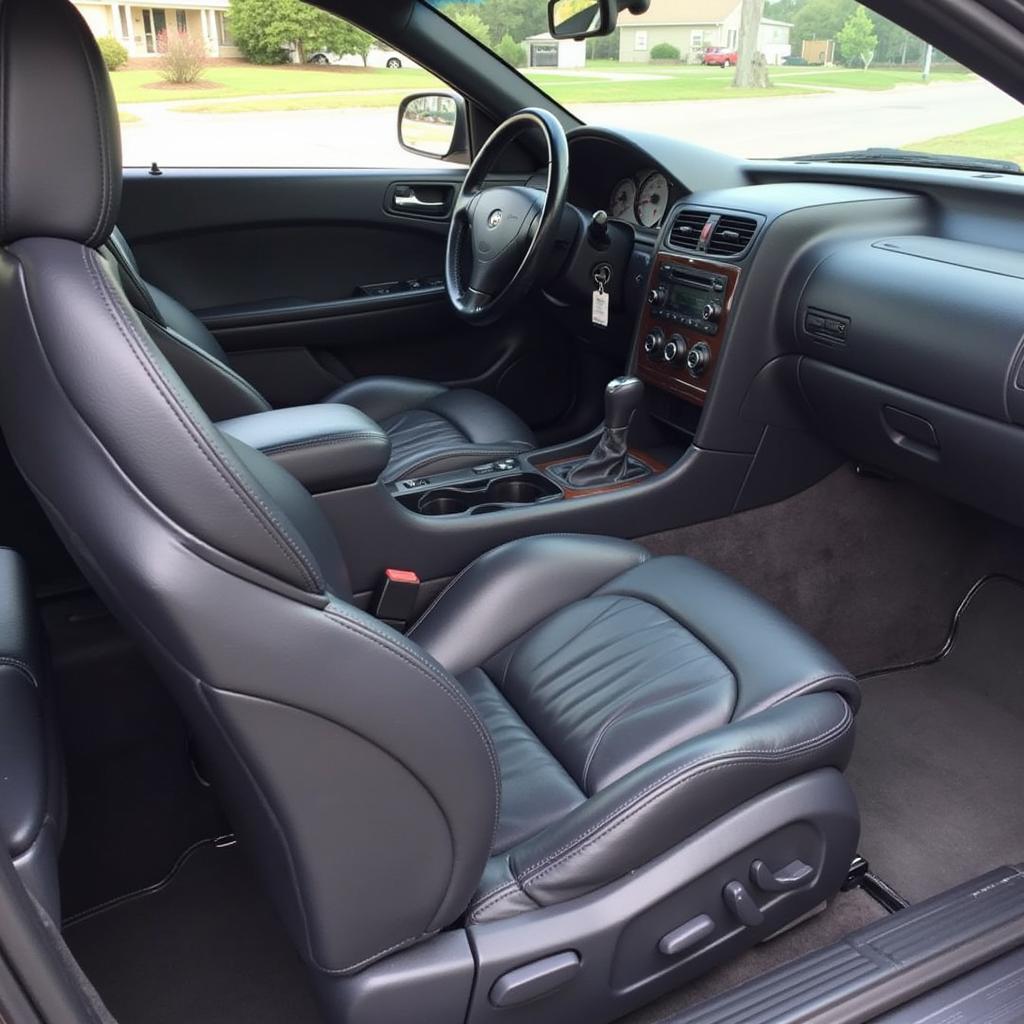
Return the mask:
[[677,1020],[678,1014],[696,1008],[715,995],[727,992],[730,988],[742,985],[743,982],[773,971],[799,956],[830,946],[852,932],[866,928],[885,916],[886,911],[862,890],[840,893],[823,913],[783,932],[771,942],[755,946],[731,964],[712,971],[657,1002],[622,1018],[618,1024],[660,1024],[670,1019]]

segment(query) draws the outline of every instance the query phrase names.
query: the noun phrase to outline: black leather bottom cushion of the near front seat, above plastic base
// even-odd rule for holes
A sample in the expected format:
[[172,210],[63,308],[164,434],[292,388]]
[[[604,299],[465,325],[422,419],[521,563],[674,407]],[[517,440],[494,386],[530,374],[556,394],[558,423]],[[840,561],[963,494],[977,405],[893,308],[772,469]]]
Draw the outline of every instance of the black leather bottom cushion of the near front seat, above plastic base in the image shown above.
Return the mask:
[[596,538],[485,555],[412,636],[495,739],[490,921],[640,867],[796,775],[843,769],[857,684],[727,577]]

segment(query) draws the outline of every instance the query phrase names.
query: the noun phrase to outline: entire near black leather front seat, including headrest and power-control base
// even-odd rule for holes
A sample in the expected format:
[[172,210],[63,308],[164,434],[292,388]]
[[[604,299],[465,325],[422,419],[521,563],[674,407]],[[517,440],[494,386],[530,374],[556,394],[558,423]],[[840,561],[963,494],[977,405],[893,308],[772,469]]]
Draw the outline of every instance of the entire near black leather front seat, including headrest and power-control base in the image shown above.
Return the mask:
[[318,506],[217,429],[100,252],[120,154],[91,34],[65,0],[0,25],[0,426],[329,1017],[610,1020],[833,895],[849,674],[718,572],[610,538],[499,548],[408,636],[356,608]]

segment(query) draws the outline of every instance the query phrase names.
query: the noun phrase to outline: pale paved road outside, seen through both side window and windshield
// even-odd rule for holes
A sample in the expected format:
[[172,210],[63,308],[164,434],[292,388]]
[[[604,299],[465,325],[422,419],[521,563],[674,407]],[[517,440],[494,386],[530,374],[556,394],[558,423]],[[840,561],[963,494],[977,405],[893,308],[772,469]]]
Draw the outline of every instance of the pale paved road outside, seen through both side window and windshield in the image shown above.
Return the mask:
[[[126,108],[125,163],[166,167],[436,167],[398,146],[395,110],[188,114],[177,103]],[[1024,115],[980,80],[898,86],[886,92],[840,89],[806,96],[591,103],[585,121],[656,131],[739,157],[786,157],[869,145],[904,146]]]

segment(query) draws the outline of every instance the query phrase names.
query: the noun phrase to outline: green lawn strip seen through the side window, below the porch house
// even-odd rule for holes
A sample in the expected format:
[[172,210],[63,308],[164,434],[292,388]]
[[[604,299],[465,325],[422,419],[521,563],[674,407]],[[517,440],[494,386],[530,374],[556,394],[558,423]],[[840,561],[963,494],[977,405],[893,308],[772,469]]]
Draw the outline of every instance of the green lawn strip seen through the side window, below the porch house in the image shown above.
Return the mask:
[[214,67],[204,76],[206,87],[157,87],[160,75],[150,71],[119,71],[111,76],[119,103],[160,102],[169,99],[220,99],[227,96],[265,96],[295,92],[348,92],[367,89],[398,89],[412,92],[439,83],[429,72],[412,68],[314,68]]

